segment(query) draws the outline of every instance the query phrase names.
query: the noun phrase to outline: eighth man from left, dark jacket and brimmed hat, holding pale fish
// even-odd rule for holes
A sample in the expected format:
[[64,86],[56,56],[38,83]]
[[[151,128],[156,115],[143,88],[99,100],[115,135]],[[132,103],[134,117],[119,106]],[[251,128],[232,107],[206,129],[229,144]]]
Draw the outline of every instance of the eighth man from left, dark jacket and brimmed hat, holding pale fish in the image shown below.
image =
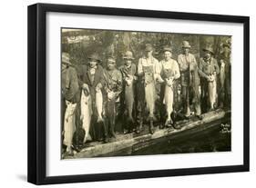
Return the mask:
[[201,77],[202,102],[207,104],[204,111],[214,110],[217,99],[217,75],[220,73],[220,67],[217,60],[213,58],[213,49],[210,46],[204,47],[204,57],[200,58],[199,74]]

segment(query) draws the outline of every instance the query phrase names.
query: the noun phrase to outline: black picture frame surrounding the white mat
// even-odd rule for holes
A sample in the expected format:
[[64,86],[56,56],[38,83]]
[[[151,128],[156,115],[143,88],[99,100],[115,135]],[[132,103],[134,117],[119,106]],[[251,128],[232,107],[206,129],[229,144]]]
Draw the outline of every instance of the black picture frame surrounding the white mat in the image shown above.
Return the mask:
[[[154,170],[124,173],[78,174],[46,176],[46,13],[76,13],[90,15],[122,15],[166,18],[188,21],[212,21],[243,24],[243,164],[217,167]],[[28,153],[27,181],[36,184],[81,183],[94,181],[152,178],[205,173],[232,173],[249,171],[250,161],[250,72],[249,40],[250,18],[236,15],[206,15],[153,10],[123,9],[80,5],[36,4],[28,6]]]

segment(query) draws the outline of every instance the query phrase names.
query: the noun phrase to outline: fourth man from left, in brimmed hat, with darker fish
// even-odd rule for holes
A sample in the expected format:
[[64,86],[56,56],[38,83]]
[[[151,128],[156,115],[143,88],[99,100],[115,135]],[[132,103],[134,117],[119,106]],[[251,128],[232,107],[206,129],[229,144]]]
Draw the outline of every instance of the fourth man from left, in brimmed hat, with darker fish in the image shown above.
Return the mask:
[[[135,82],[138,79],[136,64],[132,63],[134,60],[133,54],[127,51],[124,56],[124,64],[119,67],[123,78],[123,92],[121,94],[121,109],[127,114],[125,124],[123,126],[124,134],[130,133],[135,128]],[[137,127],[137,132],[139,129]]]

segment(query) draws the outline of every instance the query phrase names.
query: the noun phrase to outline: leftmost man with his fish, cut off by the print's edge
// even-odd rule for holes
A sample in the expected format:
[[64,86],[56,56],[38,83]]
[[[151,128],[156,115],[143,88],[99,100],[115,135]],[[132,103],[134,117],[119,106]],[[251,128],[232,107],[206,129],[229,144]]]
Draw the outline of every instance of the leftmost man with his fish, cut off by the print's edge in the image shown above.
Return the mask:
[[67,146],[66,152],[73,154],[72,140],[76,130],[76,110],[80,101],[79,86],[76,69],[69,61],[69,54],[62,53],[61,64],[61,94],[63,115],[63,144]]

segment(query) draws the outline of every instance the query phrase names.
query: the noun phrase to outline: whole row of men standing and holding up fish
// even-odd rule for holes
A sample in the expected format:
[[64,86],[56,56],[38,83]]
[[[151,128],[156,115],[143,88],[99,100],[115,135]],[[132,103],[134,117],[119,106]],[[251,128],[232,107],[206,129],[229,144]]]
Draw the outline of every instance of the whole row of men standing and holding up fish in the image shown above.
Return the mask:
[[[116,137],[118,120],[124,134],[139,133],[143,124],[148,124],[148,131],[153,134],[156,122],[161,129],[169,126],[179,129],[174,115],[179,109],[184,118],[189,118],[193,111],[201,120],[202,112],[217,107],[218,93],[220,107],[229,105],[230,45],[223,45],[220,61],[213,57],[211,47],[202,49],[204,55],[199,61],[189,53],[190,48],[189,42],[183,41],[182,54],[176,61],[172,58],[172,48],[164,46],[164,58],[159,61],[153,56],[153,46],[147,44],[138,64],[128,51],[120,67],[116,57],[108,55],[106,68],[96,53],[88,56],[88,64],[78,68],[70,63],[69,54],[62,53],[63,143],[67,153],[72,153],[76,124],[84,127],[84,143],[88,139],[107,143],[109,138]],[[177,105],[179,95],[181,103]],[[201,104],[205,109],[201,109]]]

